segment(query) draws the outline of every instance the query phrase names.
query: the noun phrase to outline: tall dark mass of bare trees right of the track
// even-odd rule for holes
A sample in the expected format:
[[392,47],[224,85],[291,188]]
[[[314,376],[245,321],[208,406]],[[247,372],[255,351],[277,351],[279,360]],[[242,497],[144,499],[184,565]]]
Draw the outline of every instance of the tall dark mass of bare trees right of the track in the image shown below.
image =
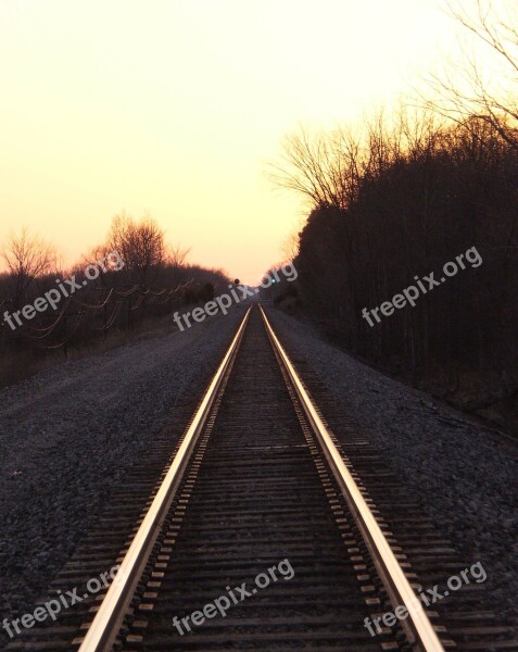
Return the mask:
[[[477,7],[475,16],[452,11],[518,82],[515,24]],[[305,311],[374,364],[481,406],[518,390],[518,102],[469,66],[468,90],[434,77],[432,101],[390,120],[380,112],[363,129],[301,128],[273,177],[309,204],[294,258]],[[363,318],[364,308],[440,276],[471,247],[477,268],[374,327]]]

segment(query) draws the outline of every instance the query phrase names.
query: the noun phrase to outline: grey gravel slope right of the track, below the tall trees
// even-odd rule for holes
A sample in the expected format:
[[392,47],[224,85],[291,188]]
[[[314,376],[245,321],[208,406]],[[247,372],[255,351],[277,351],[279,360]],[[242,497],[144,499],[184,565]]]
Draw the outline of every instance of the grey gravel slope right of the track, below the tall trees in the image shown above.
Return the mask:
[[518,626],[517,443],[362,364],[311,324],[276,310],[268,315],[288,352],[384,453],[466,565],[482,562],[489,603]]

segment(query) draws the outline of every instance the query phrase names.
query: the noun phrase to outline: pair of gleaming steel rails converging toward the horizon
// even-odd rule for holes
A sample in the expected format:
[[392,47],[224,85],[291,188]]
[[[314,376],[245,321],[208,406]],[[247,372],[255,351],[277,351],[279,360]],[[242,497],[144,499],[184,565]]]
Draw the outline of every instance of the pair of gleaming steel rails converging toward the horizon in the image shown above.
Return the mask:
[[[346,468],[337,447],[323,424],[318,411],[314,406],[293,365],[277,339],[267,317],[260,304],[261,313],[270,341],[276,349],[285,368],[293,384],[301,405],[323,447],[323,451],[337,477],[372,555],[374,563],[389,592],[394,607],[405,605],[408,618],[402,622],[407,638],[414,650],[424,652],[444,652],[439,638],[433,630],[416,593],[413,591],[403,569],[395,559],[387,539],[379,528],[370,509],[365,502],[356,482]],[[149,507],[140,527],[132,540],[110,589],[104,597],[99,611],[93,618],[80,647],[79,652],[109,652],[118,635],[124,616],[140,580],[142,572],[153,550],[156,537],[161,530],[173,498],[180,485],[184,472],[203,430],[219,388],[230,367],[242,334],[249,319],[248,309],[232,342],[218,366],[197,413],[187,429],[177,453]]]

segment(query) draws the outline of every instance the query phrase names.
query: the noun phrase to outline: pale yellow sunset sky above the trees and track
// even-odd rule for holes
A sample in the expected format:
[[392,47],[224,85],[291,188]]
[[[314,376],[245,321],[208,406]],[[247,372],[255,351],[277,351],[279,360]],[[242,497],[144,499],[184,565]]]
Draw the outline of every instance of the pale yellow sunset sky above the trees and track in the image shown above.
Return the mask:
[[454,35],[435,0],[0,0],[0,244],[26,225],[71,263],[149,212],[253,283],[303,214],[265,175],[282,137],[390,102]]

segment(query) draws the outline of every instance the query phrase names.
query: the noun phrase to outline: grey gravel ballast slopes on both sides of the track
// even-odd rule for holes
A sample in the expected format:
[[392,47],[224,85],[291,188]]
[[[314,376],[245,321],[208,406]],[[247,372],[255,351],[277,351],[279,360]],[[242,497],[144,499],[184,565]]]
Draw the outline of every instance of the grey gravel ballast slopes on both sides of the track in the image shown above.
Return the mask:
[[[0,619],[34,610],[117,479],[210,380],[243,314],[147,336],[0,392]],[[466,565],[482,562],[492,610],[517,623],[516,443],[348,355],[311,324],[268,315]]]

